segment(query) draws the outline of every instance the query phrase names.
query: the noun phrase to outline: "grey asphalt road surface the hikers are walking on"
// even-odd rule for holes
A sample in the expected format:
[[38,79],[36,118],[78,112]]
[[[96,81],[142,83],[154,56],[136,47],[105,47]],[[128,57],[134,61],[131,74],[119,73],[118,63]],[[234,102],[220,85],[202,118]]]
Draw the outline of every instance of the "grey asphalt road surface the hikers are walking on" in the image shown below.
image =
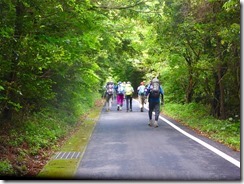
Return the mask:
[[[240,180],[240,168],[162,120],[147,125],[148,112],[103,109],[77,169],[77,179],[95,180]],[[180,126],[176,123],[177,126]],[[240,153],[196,135],[237,162]]]

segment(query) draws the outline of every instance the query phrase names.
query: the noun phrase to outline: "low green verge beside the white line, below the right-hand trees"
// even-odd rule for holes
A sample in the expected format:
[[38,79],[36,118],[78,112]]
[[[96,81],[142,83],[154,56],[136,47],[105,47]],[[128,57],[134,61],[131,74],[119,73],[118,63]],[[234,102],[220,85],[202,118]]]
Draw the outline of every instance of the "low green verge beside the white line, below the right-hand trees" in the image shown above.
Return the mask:
[[194,103],[167,104],[163,107],[163,114],[235,151],[240,151],[240,120],[238,117],[218,120],[208,115],[206,107]]

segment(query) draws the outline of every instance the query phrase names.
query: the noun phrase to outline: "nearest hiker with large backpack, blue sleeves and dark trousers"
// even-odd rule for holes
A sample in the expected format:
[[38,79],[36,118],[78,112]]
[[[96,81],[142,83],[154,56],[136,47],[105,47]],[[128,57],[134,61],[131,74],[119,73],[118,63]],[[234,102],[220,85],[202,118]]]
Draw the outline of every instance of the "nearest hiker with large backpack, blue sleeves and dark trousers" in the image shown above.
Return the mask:
[[149,102],[149,126],[153,125],[152,120],[152,112],[155,111],[155,121],[154,121],[154,127],[158,127],[158,117],[160,114],[160,95],[161,95],[161,104],[164,103],[164,91],[162,86],[160,85],[160,82],[158,78],[153,78],[150,85],[148,85],[146,90],[146,95],[148,96],[148,102]]

